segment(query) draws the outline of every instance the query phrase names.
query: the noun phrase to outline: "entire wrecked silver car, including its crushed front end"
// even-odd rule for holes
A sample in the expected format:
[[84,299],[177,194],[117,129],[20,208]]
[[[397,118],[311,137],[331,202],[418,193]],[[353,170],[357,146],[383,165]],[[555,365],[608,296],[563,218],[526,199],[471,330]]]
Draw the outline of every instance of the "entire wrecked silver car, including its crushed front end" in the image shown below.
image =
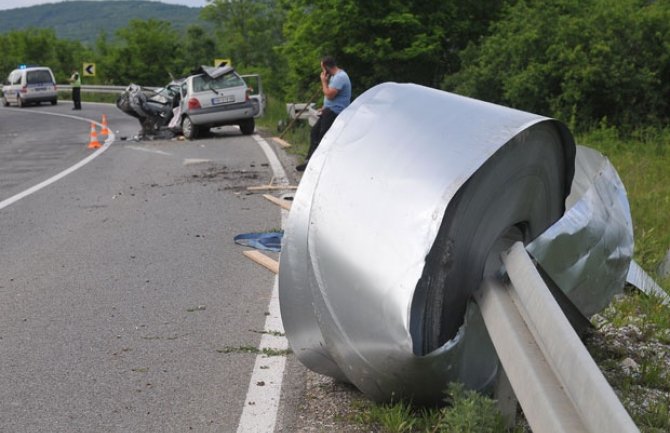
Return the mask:
[[[245,78],[256,87],[247,86]],[[260,77],[242,77],[229,65],[201,66],[192,75],[153,91],[131,84],[117,100],[120,110],[139,119],[142,136],[168,131],[181,132],[188,139],[224,125],[237,125],[242,134],[252,134],[264,105]]]

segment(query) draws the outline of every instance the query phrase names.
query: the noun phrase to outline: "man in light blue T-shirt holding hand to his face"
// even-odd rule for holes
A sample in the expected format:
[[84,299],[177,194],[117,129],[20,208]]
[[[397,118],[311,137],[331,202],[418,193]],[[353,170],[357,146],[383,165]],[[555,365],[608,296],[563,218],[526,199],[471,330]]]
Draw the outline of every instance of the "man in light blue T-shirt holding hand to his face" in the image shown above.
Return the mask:
[[321,139],[330,129],[338,114],[351,103],[351,81],[347,73],[340,69],[332,56],[321,59],[321,91],[323,92],[323,108],[319,119],[310,131],[309,151],[305,162],[296,166],[296,170],[304,171]]

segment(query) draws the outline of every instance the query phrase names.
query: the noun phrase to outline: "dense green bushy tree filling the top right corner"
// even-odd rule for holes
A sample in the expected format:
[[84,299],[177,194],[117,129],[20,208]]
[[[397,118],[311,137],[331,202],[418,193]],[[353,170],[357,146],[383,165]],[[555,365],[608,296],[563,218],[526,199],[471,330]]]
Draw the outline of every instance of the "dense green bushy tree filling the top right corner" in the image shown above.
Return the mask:
[[519,1],[443,86],[589,126],[667,119],[670,4]]

